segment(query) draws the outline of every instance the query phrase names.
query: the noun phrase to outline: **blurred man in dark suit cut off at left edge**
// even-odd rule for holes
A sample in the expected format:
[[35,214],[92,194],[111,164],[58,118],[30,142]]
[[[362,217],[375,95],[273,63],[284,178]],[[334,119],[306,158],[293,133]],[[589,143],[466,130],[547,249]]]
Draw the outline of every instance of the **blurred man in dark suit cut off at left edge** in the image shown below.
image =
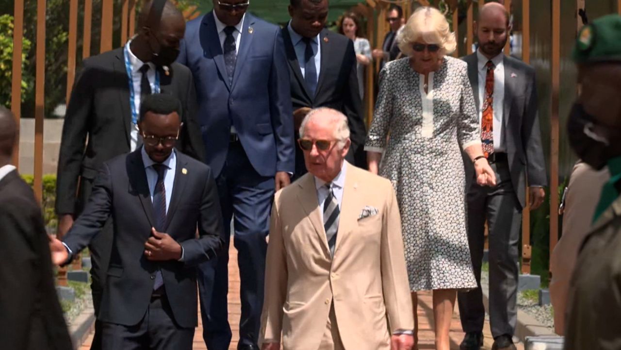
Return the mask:
[[11,165],[17,132],[0,106],[0,348],[71,350],[41,208]]

